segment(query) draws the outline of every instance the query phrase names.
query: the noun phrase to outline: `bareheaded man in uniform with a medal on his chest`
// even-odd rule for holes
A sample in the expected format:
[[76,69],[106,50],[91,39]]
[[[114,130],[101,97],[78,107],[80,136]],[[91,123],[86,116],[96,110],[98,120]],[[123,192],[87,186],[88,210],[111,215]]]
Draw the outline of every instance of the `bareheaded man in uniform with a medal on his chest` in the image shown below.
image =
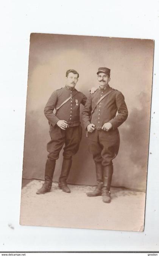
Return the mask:
[[67,70],[65,87],[54,91],[45,106],[44,114],[50,123],[51,140],[47,144],[49,154],[45,165],[45,182],[36,194],[45,194],[51,190],[56,159],[59,158],[64,144],[59,188],[64,192],[70,192],[66,180],[72,165],[72,156],[77,153],[82,137],[80,104],[85,105],[87,100],[82,92],[75,89],[78,77],[76,70]]

